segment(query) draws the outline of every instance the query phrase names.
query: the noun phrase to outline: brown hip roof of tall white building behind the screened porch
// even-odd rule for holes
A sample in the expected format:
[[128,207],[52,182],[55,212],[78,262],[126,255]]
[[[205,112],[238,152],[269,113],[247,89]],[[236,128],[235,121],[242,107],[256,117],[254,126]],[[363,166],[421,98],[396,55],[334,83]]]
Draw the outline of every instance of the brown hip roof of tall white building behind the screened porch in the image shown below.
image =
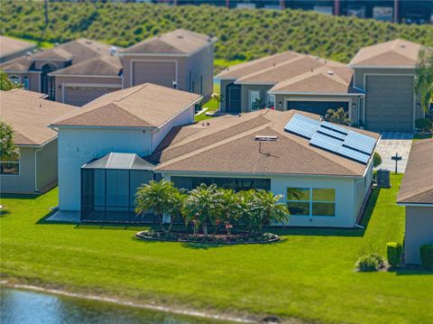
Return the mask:
[[160,127],[201,96],[145,83],[108,93],[51,126]]

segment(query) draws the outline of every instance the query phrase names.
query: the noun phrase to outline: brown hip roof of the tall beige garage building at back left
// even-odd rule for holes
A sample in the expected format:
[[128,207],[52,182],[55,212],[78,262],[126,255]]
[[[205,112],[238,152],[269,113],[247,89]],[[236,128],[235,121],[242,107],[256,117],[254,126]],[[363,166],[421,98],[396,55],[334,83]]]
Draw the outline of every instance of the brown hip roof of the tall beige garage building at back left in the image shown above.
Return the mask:
[[215,38],[207,35],[177,29],[173,32],[163,33],[143,42],[134,44],[122,51],[121,54],[191,54],[216,42]]

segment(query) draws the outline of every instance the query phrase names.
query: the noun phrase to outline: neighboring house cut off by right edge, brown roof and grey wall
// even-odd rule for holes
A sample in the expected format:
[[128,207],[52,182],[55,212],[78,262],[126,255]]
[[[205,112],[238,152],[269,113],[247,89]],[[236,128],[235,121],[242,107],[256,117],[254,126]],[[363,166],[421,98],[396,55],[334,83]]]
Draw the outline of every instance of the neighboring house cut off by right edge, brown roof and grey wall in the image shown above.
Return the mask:
[[433,245],[433,139],[414,142],[397,203],[406,208],[405,264],[420,264],[419,247]]

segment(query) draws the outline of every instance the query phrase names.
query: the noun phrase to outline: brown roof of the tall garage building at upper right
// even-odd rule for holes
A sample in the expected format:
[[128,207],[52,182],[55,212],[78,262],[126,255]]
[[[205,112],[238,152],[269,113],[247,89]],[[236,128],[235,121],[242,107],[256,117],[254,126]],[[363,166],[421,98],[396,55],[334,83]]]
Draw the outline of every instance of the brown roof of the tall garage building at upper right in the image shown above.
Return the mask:
[[382,42],[359,50],[349,66],[415,68],[421,48],[420,44],[401,39]]

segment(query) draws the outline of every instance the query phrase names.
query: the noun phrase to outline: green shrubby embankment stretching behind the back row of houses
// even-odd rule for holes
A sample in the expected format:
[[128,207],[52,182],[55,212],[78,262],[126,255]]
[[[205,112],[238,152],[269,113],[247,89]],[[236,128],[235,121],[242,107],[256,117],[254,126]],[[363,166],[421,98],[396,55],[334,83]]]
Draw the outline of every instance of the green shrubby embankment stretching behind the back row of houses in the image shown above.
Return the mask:
[[217,36],[216,58],[251,60],[281,51],[348,62],[361,47],[395,38],[433,45],[433,26],[384,23],[300,10],[227,10],[211,5],[2,1],[1,33],[43,42],[88,37],[130,46],[176,28]]

